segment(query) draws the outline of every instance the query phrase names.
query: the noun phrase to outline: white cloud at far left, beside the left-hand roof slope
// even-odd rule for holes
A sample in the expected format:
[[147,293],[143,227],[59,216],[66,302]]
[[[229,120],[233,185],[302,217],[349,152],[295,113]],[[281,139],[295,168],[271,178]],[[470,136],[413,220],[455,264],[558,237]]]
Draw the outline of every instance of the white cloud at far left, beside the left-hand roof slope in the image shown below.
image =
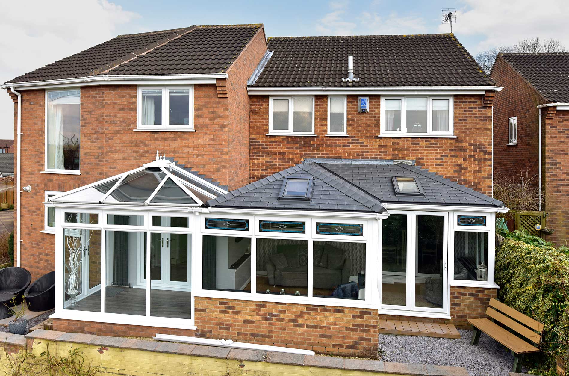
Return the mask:
[[[3,1],[0,14],[0,82],[109,40],[140,17],[107,0]],[[13,135],[13,113],[2,90],[0,138]]]

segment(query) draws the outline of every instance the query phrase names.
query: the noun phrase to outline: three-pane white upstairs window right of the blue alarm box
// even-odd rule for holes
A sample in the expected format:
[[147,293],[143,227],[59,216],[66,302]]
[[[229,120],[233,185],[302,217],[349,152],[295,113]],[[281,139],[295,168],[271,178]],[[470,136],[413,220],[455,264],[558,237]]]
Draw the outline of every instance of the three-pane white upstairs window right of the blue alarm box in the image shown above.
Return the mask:
[[382,136],[452,136],[452,96],[382,96]]

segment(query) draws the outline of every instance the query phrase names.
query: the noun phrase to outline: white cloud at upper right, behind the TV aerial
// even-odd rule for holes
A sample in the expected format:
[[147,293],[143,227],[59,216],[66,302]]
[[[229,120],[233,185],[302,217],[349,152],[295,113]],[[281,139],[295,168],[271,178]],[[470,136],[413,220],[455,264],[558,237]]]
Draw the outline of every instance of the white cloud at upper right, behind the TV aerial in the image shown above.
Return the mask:
[[[463,0],[457,10],[457,23],[452,31],[479,38],[471,53],[491,47],[511,45],[521,39],[559,39],[569,48],[566,0],[550,0],[547,6],[538,6],[532,0],[500,0],[491,4],[477,0]],[[440,32],[448,32],[448,24],[439,26]]]

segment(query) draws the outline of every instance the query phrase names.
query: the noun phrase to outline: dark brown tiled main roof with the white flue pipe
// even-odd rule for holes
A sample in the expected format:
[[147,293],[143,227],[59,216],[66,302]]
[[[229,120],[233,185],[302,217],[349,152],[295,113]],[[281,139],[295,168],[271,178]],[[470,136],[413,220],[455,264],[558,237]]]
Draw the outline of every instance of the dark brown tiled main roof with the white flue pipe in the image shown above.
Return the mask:
[[[269,38],[253,86],[488,86],[494,82],[453,34]],[[348,76],[354,57],[356,82]]]

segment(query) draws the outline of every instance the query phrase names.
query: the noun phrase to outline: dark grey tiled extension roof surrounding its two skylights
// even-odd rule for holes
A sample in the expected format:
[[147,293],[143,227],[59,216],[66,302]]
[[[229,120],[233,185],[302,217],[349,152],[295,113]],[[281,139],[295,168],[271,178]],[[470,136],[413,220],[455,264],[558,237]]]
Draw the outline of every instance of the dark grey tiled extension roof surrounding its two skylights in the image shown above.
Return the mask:
[[[415,177],[423,195],[397,195],[392,176]],[[311,200],[279,199],[285,177],[312,177]],[[385,203],[502,206],[501,201],[417,166],[392,160],[355,159],[307,159],[209,200],[204,206],[380,213],[385,211]]]

